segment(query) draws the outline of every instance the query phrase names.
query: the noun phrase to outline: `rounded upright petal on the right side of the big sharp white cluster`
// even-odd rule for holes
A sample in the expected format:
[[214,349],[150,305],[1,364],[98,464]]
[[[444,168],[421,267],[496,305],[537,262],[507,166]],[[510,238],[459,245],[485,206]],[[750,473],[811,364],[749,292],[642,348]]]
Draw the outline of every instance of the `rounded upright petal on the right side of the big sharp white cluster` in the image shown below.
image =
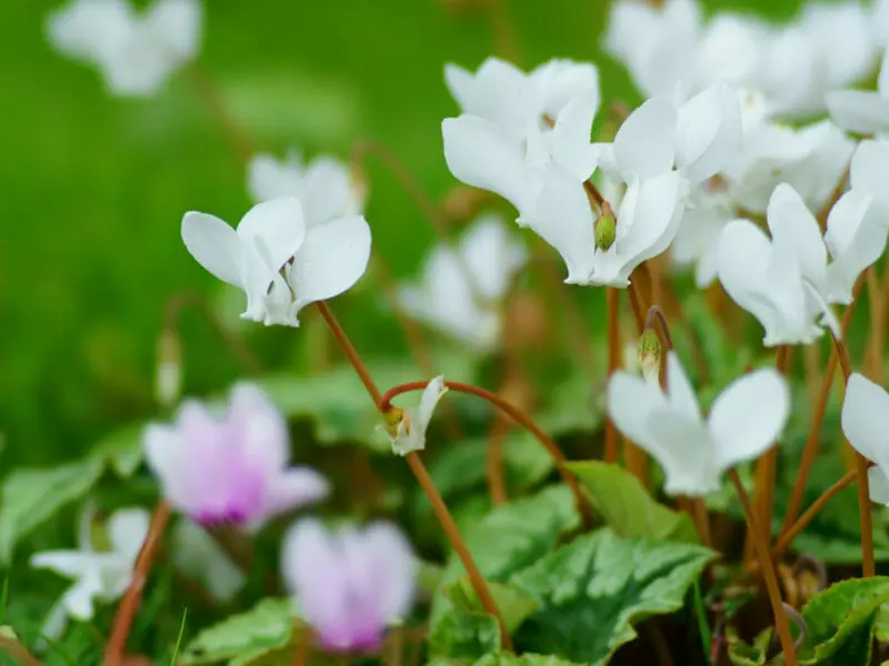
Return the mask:
[[691,184],[721,171],[740,148],[737,93],[717,83],[696,94],[679,109],[676,134],[676,164]]

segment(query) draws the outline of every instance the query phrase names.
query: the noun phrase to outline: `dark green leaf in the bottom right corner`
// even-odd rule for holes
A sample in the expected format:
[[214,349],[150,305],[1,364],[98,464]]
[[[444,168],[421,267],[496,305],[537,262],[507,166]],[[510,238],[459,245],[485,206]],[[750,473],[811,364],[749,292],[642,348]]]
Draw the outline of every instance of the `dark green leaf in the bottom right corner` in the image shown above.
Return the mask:
[[877,613],[886,603],[886,576],[842,581],[813,596],[802,609],[807,634],[798,653],[799,663],[869,663]]

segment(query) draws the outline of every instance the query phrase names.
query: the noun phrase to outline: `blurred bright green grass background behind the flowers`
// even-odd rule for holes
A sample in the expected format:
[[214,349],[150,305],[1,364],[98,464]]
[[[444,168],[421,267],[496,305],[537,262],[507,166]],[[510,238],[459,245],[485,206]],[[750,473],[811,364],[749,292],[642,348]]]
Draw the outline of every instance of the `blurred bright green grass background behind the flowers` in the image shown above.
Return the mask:
[[[0,2],[0,467],[74,457],[103,432],[153,411],[152,381],[164,304],[186,290],[218,299],[220,284],[179,239],[187,210],[237,222],[249,208],[244,165],[187,77],[162,93],[119,100],[96,71],[44,39],[60,3]],[[476,68],[496,51],[487,13],[438,0],[209,0],[200,67],[258,150],[291,145],[346,157],[381,141],[441,198],[456,183],[439,123],[453,114],[442,67]],[[635,101],[622,69],[597,48],[608,2],[505,0],[519,63],[593,60],[606,99]],[[710,2],[780,17],[796,0]],[[412,202],[371,163],[368,219],[398,275],[432,242]],[[383,316],[356,311],[372,285],[336,303],[362,349],[399,349]],[[370,295],[369,295],[370,294]],[[340,302],[341,301],[341,302]],[[220,306],[232,322],[240,299]],[[236,324],[237,325],[237,324]],[[213,331],[183,321],[186,391],[238,376]],[[239,327],[270,366],[300,360],[306,336]]]

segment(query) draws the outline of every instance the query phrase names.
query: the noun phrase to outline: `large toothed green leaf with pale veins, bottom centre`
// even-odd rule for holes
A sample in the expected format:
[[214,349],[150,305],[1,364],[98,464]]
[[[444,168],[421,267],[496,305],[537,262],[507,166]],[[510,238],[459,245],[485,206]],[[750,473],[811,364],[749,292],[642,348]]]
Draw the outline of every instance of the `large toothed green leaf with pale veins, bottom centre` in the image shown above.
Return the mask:
[[541,608],[518,635],[521,649],[606,664],[632,640],[632,623],[682,607],[716,554],[703,546],[621,539],[608,528],[578,537],[510,578]]

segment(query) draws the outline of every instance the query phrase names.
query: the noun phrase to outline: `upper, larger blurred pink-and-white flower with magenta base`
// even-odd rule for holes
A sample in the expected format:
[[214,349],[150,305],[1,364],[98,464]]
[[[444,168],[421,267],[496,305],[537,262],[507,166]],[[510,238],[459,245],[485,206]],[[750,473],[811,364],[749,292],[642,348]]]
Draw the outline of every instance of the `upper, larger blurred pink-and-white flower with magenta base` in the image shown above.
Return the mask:
[[254,384],[234,386],[221,415],[186,401],[172,424],[146,428],[143,444],[167,500],[204,526],[256,526],[329,492],[314,470],[288,467],[287,423]]

